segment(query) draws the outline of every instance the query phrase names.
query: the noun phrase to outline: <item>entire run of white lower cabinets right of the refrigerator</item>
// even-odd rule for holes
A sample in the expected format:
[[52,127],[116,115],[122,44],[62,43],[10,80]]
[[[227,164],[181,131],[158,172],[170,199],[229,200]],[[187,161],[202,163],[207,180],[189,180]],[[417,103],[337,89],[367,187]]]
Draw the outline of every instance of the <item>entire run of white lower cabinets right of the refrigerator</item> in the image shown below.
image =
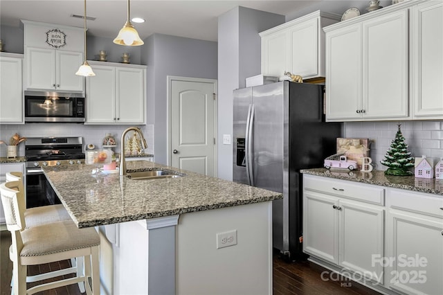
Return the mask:
[[303,175],[303,251],[383,294],[443,294],[443,196]]

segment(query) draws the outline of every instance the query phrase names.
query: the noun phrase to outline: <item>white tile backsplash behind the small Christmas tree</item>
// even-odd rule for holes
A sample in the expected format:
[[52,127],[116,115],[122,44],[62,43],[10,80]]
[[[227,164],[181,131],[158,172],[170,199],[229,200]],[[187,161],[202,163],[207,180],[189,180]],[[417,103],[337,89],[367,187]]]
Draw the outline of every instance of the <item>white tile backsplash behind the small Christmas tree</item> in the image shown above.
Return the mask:
[[443,157],[443,121],[399,121],[399,122],[347,122],[344,136],[347,138],[369,138],[370,157],[374,169],[386,170],[381,165],[390,143],[395,138],[398,124],[413,157],[440,159]]

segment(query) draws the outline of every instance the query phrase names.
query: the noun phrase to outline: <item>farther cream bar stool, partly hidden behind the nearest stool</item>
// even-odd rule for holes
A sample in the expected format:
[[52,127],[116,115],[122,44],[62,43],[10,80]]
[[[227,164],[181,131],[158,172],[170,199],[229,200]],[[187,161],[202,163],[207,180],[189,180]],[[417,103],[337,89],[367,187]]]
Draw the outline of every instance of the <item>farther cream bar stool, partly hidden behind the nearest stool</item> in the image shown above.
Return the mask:
[[[24,192],[24,182],[22,172],[6,172],[6,182],[9,181],[20,181],[19,190]],[[24,197],[24,204],[25,197]],[[48,224],[51,222],[60,222],[64,220],[69,220],[72,222],[71,216],[69,216],[68,211],[64,208],[62,204],[41,206],[35,208],[28,208],[24,213],[26,227],[34,227],[42,224]],[[48,271],[44,274],[37,274],[34,276],[26,276],[26,283],[33,283],[39,280],[46,280],[47,278],[55,278],[57,276],[64,276],[66,274],[76,274],[80,276],[83,274],[83,258],[73,258],[71,259],[71,267],[66,267],[64,269],[59,269],[56,271]],[[12,278],[13,280],[14,278]],[[12,287],[11,280],[11,287]],[[84,293],[84,284],[78,283],[80,292]]]

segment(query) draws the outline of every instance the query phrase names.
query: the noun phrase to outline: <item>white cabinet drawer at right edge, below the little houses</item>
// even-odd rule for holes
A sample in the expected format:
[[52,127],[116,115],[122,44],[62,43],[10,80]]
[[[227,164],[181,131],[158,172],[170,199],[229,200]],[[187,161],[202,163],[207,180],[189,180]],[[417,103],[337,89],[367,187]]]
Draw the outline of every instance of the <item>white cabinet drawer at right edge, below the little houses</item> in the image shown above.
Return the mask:
[[443,218],[443,197],[407,190],[389,190],[390,208]]

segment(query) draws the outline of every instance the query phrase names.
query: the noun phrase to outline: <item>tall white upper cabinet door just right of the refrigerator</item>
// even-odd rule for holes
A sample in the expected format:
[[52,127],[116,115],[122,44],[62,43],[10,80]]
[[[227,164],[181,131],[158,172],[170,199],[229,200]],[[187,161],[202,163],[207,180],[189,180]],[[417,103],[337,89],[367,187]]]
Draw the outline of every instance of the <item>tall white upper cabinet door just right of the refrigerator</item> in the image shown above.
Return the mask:
[[326,33],[326,118],[361,114],[361,24]]

